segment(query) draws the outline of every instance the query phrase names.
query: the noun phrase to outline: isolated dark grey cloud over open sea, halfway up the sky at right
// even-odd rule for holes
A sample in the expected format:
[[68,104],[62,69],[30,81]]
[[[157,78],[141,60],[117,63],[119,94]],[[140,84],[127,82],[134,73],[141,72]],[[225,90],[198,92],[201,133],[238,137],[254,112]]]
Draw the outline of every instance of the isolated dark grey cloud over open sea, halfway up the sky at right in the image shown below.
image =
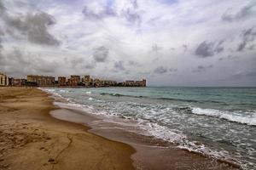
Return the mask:
[[224,51],[223,46],[224,41],[220,42],[201,42],[199,46],[195,49],[195,54],[202,57],[211,57],[214,54],[218,54]]

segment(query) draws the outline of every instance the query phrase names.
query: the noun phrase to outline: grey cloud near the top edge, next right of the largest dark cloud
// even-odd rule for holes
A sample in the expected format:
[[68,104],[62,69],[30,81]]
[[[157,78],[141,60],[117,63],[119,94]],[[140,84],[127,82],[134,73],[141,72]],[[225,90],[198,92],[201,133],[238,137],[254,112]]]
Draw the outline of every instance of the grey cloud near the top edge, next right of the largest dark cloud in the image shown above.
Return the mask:
[[84,9],[82,10],[82,13],[84,14],[85,19],[89,20],[102,20],[106,17],[115,16],[115,12],[112,8],[105,6],[100,11],[96,11],[94,9],[90,9],[87,6],[84,6]]

